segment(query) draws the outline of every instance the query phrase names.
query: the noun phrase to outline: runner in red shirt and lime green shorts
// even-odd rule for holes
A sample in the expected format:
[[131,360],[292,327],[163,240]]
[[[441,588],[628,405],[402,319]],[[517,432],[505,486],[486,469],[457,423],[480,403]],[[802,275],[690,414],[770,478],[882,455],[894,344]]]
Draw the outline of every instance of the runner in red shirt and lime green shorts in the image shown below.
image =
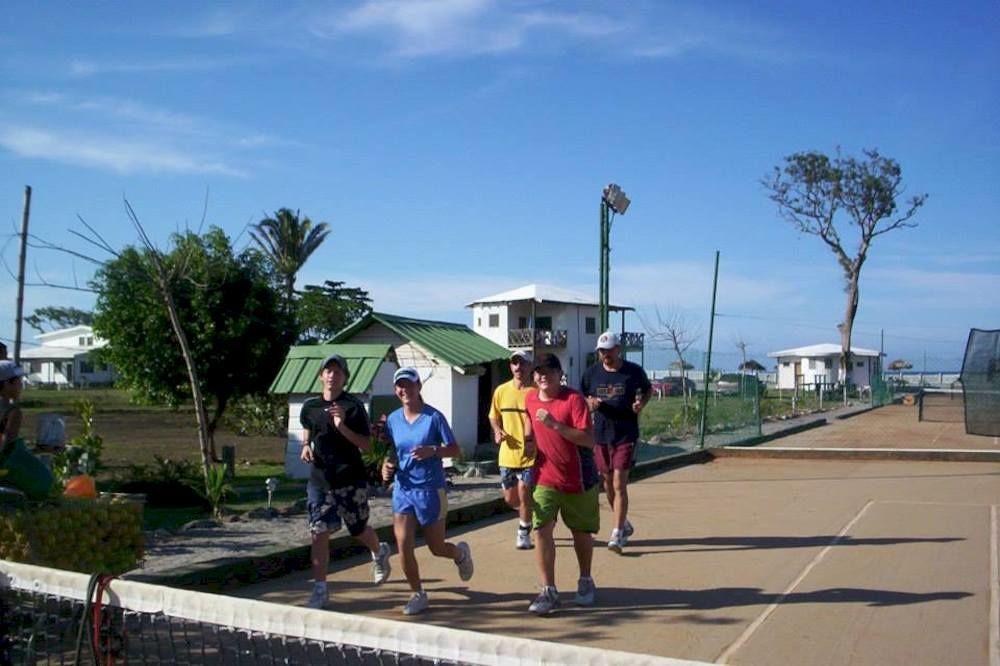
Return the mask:
[[598,474],[594,462],[594,437],[590,432],[590,411],[583,395],[561,384],[562,364],[554,354],[542,354],[535,363],[535,391],[525,396],[526,438],[537,445],[538,471],[533,493],[532,523],[542,592],[528,610],[547,615],[558,608],[556,590],[556,546],[552,530],[556,518],[573,534],[573,549],[580,565],[576,603],[594,603],[594,580],[590,563],[594,554],[593,535],[601,528],[597,507]]

